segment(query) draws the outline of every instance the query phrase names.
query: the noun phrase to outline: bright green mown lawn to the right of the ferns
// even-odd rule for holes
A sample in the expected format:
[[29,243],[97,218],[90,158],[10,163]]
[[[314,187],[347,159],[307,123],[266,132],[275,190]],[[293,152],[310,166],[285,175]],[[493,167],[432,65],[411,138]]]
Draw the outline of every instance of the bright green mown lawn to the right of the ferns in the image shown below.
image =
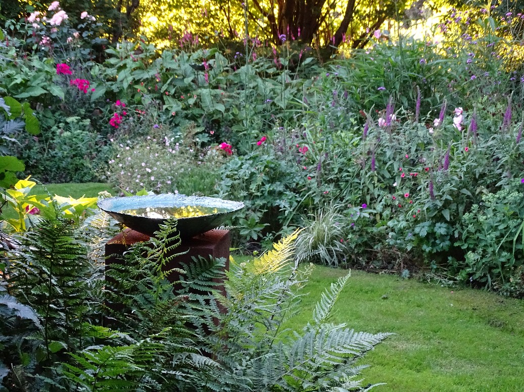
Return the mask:
[[[291,328],[311,316],[325,287],[347,271],[317,266]],[[379,391],[524,391],[524,301],[352,271],[333,322],[394,332],[361,363]],[[364,384],[364,385],[365,385]]]

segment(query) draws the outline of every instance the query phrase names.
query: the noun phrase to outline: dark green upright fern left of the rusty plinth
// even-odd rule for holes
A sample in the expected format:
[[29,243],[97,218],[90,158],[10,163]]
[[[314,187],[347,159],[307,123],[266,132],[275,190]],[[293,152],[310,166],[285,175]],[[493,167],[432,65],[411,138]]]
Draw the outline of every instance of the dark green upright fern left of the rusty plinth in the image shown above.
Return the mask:
[[[58,207],[54,205],[58,216]],[[78,231],[67,220],[49,216],[20,238],[18,259],[6,268],[8,291],[41,317],[48,358],[53,341],[81,349],[78,336],[86,307],[85,280],[90,264]]]

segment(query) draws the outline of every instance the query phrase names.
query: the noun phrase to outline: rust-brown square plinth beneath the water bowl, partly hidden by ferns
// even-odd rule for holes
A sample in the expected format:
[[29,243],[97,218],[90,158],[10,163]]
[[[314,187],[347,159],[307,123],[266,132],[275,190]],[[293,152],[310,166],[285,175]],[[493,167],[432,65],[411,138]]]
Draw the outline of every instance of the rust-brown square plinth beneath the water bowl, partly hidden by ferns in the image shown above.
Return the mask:
[[[113,263],[121,263],[122,255],[127,249],[137,242],[149,241],[150,236],[139,233],[130,228],[126,228],[122,233],[114,236],[105,244],[105,269],[111,268]],[[214,258],[224,257],[226,259],[225,270],[229,269],[231,237],[228,230],[210,230],[203,234],[195,235],[192,238],[182,239],[181,244],[174,249],[174,253],[186,252],[179,255],[174,260],[167,264],[165,270],[172,268],[182,268],[182,263],[193,263],[192,257],[204,257],[209,259],[210,256]],[[183,268],[182,268],[183,269]],[[176,282],[180,280],[180,275],[172,272],[168,275],[168,280]],[[213,279],[214,282],[222,284],[222,279]],[[223,291],[223,285],[220,286]]]

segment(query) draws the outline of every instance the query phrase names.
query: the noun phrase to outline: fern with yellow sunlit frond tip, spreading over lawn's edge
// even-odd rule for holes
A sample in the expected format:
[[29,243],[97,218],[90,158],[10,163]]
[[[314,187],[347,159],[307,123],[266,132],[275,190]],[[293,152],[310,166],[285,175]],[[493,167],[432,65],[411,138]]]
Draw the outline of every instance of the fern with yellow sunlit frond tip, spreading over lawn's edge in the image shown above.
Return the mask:
[[[199,350],[223,367],[208,374],[211,382],[201,390],[362,390],[354,377],[366,366],[356,362],[389,334],[357,333],[344,324],[326,323],[349,274],[323,293],[302,333],[290,337],[279,330],[297,307],[303,285],[298,262],[291,259],[295,237],[283,238],[251,263],[231,262],[226,296],[198,297],[193,311],[200,312]],[[220,313],[218,302],[227,306],[227,314]],[[215,389],[218,380],[222,386]]]

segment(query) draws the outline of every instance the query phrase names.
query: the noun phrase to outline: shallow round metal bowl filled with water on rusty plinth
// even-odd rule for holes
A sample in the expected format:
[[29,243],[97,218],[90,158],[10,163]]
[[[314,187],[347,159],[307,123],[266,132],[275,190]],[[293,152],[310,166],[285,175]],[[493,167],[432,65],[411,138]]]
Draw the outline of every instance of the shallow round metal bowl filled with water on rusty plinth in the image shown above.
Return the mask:
[[152,236],[169,217],[178,219],[180,236],[190,238],[221,226],[244,203],[184,194],[108,198],[99,208],[133,230]]

